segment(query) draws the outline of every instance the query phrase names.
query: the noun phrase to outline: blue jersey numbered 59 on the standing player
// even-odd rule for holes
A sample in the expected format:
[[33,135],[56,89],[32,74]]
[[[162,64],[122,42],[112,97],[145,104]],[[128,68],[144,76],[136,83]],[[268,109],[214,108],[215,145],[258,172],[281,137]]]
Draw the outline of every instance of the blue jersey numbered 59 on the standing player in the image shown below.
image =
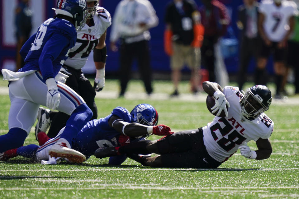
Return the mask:
[[46,20],[22,46],[20,54],[25,59],[25,65],[19,72],[38,70],[44,81],[54,78],[76,39],[77,32],[71,22],[60,18]]

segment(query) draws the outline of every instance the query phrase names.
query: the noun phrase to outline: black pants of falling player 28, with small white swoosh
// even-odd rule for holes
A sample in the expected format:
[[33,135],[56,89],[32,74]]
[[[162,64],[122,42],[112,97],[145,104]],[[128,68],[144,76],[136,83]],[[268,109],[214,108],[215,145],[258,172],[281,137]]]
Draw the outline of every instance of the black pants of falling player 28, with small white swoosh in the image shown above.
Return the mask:
[[217,168],[203,143],[202,128],[173,133],[157,141],[163,167]]

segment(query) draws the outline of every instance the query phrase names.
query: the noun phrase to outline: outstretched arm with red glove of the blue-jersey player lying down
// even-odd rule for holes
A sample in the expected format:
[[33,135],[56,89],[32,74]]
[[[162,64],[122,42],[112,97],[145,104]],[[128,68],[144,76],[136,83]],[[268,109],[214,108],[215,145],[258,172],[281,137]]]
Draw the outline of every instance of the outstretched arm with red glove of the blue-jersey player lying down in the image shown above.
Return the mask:
[[163,124],[158,126],[146,126],[139,123],[128,123],[115,115],[109,119],[108,123],[110,127],[113,127],[116,131],[129,137],[139,137],[146,134],[162,136],[173,133],[170,127]]

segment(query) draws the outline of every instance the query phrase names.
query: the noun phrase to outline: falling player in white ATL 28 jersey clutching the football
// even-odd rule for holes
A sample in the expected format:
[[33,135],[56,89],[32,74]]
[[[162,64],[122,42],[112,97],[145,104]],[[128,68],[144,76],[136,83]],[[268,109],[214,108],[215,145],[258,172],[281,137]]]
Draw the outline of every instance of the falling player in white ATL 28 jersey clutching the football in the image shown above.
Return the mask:
[[[130,158],[152,167],[217,168],[240,149],[249,159],[263,160],[272,153],[269,137],[273,122],[263,113],[272,101],[271,91],[262,85],[247,89],[205,81],[203,89],[216,98],[215,108],[221,113],[229,106],[225,117],[215,117],[205,127],[176,132],[162,139],[142,140],[122,147],[99,148],[98,158],[127,154]],[[258,150],[247,142],[254,140]],[[155,157],[136,154],[160,154]]]

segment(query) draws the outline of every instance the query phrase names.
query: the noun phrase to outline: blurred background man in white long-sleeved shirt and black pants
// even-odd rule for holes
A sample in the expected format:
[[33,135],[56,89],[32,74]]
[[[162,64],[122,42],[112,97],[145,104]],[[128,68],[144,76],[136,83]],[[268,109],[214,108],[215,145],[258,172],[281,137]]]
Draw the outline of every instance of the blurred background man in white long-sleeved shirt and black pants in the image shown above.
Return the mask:
[[112,17],[110,48],[118,50],[116,42],[120,39],[120,97],[126,92],[130,80],[131,65],[137,58],[140,77],[148,95],[153,91],[150,66],[149,29],[158,25],[159,19],[148,0],[122,0],[118,3]]

